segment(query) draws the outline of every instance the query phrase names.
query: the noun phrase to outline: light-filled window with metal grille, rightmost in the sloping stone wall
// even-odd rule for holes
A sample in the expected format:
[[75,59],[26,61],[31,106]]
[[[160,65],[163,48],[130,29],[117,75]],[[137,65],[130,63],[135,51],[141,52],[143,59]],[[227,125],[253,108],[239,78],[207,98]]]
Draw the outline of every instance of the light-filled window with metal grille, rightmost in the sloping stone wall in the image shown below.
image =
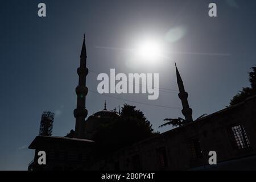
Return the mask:
[[245,149],[250,147],[249,139],[242,125],[230,127],[229,135],[234,148]]

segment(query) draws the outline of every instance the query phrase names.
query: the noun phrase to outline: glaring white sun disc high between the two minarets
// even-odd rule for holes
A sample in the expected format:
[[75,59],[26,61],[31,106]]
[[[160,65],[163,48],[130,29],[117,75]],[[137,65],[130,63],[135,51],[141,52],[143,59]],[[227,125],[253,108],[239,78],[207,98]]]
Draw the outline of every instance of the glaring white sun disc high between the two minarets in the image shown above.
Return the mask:
[[145,40],[138,44],[138,59],[145,63],[155,63],[160,59],[162,48],[155,40]]

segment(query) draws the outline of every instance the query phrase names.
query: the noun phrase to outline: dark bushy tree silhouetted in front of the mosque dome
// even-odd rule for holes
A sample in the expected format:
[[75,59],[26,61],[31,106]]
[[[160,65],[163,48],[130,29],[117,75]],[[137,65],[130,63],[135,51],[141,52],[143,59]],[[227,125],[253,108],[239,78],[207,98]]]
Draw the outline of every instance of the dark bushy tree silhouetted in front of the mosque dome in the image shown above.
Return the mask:
[[136,106],[123,105],[119,118],[98,127],[93,139],[99,152],[108,154],[158,134],[154,133],[143,112],[135,108]]

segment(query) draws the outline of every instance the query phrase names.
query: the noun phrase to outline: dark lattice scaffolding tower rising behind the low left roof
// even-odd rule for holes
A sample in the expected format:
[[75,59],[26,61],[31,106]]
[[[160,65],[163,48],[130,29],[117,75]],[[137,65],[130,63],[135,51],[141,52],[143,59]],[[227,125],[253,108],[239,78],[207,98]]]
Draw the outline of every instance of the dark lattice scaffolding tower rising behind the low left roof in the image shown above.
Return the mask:
[[44,111],[41,117],[39,135],[51,136],[54,121],[54,113]]

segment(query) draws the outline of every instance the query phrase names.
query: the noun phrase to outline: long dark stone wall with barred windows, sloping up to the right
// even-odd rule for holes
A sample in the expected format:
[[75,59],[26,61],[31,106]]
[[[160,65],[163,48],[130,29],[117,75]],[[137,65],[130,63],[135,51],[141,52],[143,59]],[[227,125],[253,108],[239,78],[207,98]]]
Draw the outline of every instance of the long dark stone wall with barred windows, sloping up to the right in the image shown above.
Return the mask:
[[217,152],[214,169],[223,165],[226,165],[225,169],[256,169],[255,159],[243,166],[238,163],[238,159],[255,156],[255,131],[256,96],[199,121],[123,148],[105,161],[94,164],[94,169],[205,169],[209,165],[209,151]]

